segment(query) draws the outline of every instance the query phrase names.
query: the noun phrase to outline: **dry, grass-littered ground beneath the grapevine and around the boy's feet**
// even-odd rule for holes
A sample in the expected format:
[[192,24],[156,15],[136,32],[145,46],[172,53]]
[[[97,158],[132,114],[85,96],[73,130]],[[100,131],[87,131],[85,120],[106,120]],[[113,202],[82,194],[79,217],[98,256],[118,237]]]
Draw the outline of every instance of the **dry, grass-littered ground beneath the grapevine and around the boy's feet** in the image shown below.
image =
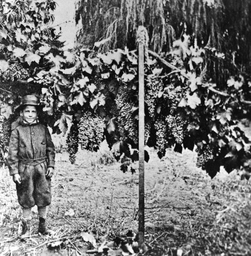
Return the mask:
[[[2,168],[0,255],[92,255],[87,251],[96,244],[137,232],[138,163],[135,174],[124,174],[119,163],[102,163],[102,154],[81,151],[72,165],[67,153],[57,153],[48,215],[48,225],[56,231],[53,237],[37,234],[34,207],[32,236],[19,239],[15,186]],[[196,154],[189,151],[168,150],[162,160],[150,151],[145,164],[144,255],[251,255],[250,181],[223,169],[211,180],[195,160]],[[95,241],[86,240],[86,233]]]

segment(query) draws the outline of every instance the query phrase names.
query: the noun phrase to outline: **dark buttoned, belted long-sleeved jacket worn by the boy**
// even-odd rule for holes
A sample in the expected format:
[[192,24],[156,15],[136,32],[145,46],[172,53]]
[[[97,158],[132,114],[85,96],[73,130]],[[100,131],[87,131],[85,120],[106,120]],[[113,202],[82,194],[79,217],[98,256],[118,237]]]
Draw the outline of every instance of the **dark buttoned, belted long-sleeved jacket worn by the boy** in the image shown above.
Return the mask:
[[21,122],[11,132],[8,166],[10,175],[18,174],[18,163],[26,159],[47,158],[47,166],[55,165],[55,146],[50,132],[41,123]]

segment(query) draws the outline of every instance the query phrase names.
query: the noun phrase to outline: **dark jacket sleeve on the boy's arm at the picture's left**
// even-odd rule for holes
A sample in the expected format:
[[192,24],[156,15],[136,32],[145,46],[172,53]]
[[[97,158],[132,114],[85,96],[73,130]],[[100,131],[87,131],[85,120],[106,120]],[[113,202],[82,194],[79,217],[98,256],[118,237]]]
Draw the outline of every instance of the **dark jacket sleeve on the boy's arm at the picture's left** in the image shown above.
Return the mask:
[[11,132],[7,157],[10,175],[18,174],[18,146],[19,136],[18,131],[15,129]]

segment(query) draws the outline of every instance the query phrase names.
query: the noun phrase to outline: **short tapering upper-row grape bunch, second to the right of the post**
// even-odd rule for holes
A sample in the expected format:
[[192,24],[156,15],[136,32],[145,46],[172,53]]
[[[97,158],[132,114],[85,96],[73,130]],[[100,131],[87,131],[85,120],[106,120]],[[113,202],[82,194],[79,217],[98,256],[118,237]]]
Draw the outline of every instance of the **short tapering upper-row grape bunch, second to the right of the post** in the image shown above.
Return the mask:
[[163,97],[166,100],[170,114],[174,115],[177,110],[178,103],[183,97],[182,89],[180,87],[168,87],[165,89]]

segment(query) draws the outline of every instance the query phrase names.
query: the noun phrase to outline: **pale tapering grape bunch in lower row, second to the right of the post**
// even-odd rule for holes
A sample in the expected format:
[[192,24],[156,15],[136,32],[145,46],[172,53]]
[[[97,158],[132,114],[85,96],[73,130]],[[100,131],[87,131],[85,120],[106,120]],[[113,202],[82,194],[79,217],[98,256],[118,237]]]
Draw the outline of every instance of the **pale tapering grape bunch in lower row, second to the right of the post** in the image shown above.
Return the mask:
[[168,125],[168,132],[172,134],[175,142],[182,144],[186,135],[187,122],[179,115],[168,115],[166,117],[166,123]]

